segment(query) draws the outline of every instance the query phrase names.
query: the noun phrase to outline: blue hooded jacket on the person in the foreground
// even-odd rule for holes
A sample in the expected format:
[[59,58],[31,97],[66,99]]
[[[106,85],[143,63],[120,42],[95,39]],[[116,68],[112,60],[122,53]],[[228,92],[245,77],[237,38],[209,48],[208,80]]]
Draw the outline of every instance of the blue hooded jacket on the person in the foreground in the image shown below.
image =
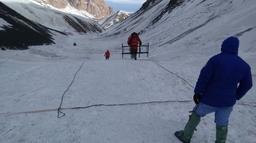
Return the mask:
[[238,38],[227,38],[221,47],[221,53],[201,69],[194,92],[201,94],[204,104],[230,107],[252,88],[252,74],[250,66],[238,56]]

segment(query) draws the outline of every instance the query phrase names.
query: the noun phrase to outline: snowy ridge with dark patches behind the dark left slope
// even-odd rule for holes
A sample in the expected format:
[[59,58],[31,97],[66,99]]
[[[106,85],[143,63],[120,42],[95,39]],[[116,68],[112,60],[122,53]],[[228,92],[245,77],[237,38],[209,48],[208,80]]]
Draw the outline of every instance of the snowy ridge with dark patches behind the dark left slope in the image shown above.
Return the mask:
[[94,20],[40,6],[30,2],[30,0],[1,1],[29,20],[51,29],[70,33],[100,33],[103,30]]

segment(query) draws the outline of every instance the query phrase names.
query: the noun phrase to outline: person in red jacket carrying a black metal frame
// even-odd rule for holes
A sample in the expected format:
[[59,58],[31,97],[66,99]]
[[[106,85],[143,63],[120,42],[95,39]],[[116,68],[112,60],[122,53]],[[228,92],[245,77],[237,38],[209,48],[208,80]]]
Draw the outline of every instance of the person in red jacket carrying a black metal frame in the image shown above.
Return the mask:
[[138,51],[138,43],[142,44],[137,33],[133,32],[127,41],[128,45],[131,47],[131,59],[137,60],[137,51]]

